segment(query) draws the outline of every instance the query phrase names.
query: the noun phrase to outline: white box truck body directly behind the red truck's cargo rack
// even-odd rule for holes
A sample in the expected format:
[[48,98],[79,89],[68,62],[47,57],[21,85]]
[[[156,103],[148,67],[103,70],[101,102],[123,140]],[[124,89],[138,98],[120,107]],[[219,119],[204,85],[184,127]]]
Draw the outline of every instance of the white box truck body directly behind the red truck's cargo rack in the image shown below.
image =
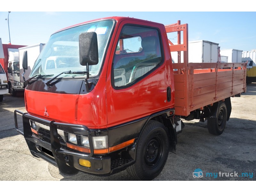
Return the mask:
[[[219,44],[205,40],[188,42],[188,62],[189,63],[216,63],[218,62]],[[178,53],[172,52],[172,59],[178,63]],[[181,62],[183,62],[183,52],[181,52]]]

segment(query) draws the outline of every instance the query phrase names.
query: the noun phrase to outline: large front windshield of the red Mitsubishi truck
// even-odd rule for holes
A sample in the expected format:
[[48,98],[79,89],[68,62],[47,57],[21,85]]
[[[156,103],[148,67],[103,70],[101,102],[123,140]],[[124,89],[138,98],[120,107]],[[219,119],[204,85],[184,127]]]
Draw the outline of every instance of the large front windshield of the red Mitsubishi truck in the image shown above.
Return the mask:
[[[53,34],[37,58],[29,77],[39,74],[53,76],[63,71],[86,71],[86,66],[80,65],[79,62],[78,40],[81,33],[92,31],[97,33],[99,63],[90,66],[89,71],[90,76],[99,75],[113,23],[113,20],[103,20]],[[84,74],[62,74],[61,76],[84,76]]]

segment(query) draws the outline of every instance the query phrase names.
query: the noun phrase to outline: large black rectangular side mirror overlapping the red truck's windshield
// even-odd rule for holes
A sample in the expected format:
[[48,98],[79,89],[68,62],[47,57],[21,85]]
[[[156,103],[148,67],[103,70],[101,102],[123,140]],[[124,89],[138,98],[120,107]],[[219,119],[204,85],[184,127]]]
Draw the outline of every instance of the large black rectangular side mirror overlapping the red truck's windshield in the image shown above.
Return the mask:
[[83,66],[98,64],[98,40],[95,32],[81,33],[79,35],[79,61],[80,65]]

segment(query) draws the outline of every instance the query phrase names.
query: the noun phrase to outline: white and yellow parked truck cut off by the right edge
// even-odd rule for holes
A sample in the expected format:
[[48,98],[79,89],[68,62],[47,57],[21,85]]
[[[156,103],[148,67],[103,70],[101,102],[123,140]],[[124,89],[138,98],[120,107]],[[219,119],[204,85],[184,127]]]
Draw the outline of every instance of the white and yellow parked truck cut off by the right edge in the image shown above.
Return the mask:
[[256,82],[256,50],[243,51],[242,62],[247,62],[246,84]]

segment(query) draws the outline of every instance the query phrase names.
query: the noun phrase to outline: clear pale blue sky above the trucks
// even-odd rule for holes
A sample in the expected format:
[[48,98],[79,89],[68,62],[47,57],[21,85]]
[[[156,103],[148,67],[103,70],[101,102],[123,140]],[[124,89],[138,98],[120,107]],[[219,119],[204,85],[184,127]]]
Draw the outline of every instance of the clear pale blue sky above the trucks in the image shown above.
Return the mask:
[[[21,1],[23,2],[23,1]],[[34,4],[37,1],[34,1]],[[58,1],[57,1],[58,2]],[[72,1],[73,2],[73,1]],[[76,0],[74,0],[76,2]],[[99,1],[97,1],[99,2]],[[106,1],[103,1],[106,2]],[[111,2],[111,1],[108,1]],[[148,2],[150,2],[148,0]],[[186,1],[184,1],[186,2]],[[195,1],[193,1],[195,2]],[[204,1],[205,2],[205,1]],[[218,2],[218,0],[217,0]],[[250,0],[247,1],[248,6],[250,7]],[[99,2],[100,4],[100,2]],[[101,4],[103,7],[106,6],[104,10],[121,10],[121,9],[113,9],[110,5],[106,3]],[[140,5],[140,4],[139,4]],[[36,6],[36,5],[35,5]],[[40,7],[38,5],[36,8]],[[69,5],[68,5],[69,6]],[[101,7],[102,7],[101,6]],[[108,6],[110,8],[108,9]],[[58,6],[50,6],[46,5],[42,7],[42,9],[36,10],[36,12],[31,12],[25,6],[24,8],[18,7],[10,7],[9,5],[5,5],[0,7],[0,38],[2,38],[3,44],[8,44],[11,39],[11,44],[18,45],[33,45],[39,43],[47,43],[49,37],[55,31],[77,24],[88,20],[104,18],[109,16],[125,16],[125,17],[134,17],[142,20],[150,20],[158,23],[163,23],[164,25],[176,23],[177,20],[181,21],[181,24],[188,23],[188,40],[196,41],[196,40],[205,40],[213,43],[217,43],[220,46],[220,50],[224,49],[237,49],[242,51],[251,51],[256,49],[256,25],[255,18],[256,12],[253,12],[252,9],[244,9],[247,11],[236,11],[239,10],[237,5],[234,9],[235,12],[231,11],[223,11],[223,9],[218,12],[208,12],[211,9],[189,9],[188,6],[183,9],[182,7],[178,10],[181,12],[170,12],[170,11],[147,11],[152,10],[152,6],[150,9],[145,8],[142,11],[139,6],[134,7],[133,9],[129,9],[131,5],[125,5],[124,7],[128,7],[128,10],[135,10],[134,12],[126,11],[127,8],[124,8],[123,12],[95,12],[95,10],[102,10],[95,8],[90,9],[90,5],[87,6],[77,6],[76,9],[70,6],[70,9],[67,7],[64,8],[56,8]],[[194,5],[195,6],[195,5]],[[213,6],[213,5],[212,5]],[[10,7],[10,8],[9,8]],[[83,8],[81,11],[81,7]],[[120,5],[119,5],[120,7]],[[211,7],[211,6],[210,6]],[[223,6],[221,6],[223,7]],[[9,10],[10,9],[10,10]],[[159,9],[156,6],[156,10],[169,10],[168,9]],[[12,11],[13,10],[13,11]],[[56,10],[56,11],[54,11]],[[61,12],[60,12],[61,10]],[[64,10],[64,11],[62,11]],[[68,10],[68,11],[65,11]],[[69,11],[71,10],[71,11]],[[73,11],[78,10],[78,11]],[[90,10],[90,12],[85,12],[86,10]],[[92,10],[92,11],[91,11]],[[172,9],[170,9],[172,10]],[[177,10],[173,8],[173,10]],[[185,11],[183,11],[185,10]],[[195,10],[196,12],[186,11],[186,10]],[[201,12],[198,10],[207,10],[207,12]],[[218,10],[214,9],[213,10]],[[226,8],[224,7],[224,10]],[[228,9],[227,9],[228,10]],[[10,37],[8,30],[8,11],[12,11],[9,14],[9,29],[10,29]],[[170,37],[175,39],[176,36]]]

